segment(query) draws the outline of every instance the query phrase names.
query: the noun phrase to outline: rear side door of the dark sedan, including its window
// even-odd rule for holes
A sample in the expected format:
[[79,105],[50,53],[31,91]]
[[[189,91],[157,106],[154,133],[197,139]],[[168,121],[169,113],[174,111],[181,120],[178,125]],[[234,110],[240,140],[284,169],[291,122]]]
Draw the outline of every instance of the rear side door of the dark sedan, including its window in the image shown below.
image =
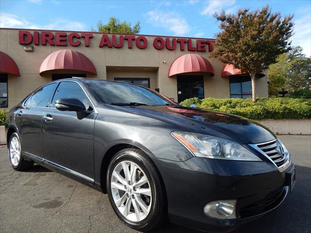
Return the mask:
[[43,157],[42,150],[42,117],[49,106],[56,83],[45,85],[38,89],[23,107],[15,112],[15,123],[20,134],[23,153]]

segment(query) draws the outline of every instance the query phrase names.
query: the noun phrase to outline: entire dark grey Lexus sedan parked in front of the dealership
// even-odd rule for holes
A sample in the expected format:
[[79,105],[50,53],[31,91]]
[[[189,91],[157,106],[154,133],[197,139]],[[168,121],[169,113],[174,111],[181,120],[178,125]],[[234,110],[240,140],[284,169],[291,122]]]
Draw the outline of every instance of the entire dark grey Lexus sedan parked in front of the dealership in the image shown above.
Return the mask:
[[130,83],[57,80],[7,117],[15,170],[37,163],[104,192],[138,231],[169,220],[230,232],[275,209],[295,183],[291,156],[269,129]]

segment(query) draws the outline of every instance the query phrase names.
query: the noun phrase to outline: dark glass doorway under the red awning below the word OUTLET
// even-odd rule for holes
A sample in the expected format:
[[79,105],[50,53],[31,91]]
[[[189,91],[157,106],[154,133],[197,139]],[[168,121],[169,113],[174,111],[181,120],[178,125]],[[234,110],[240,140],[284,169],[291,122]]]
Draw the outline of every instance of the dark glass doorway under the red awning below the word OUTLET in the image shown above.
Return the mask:
[[204,83],[202,75],[177,76],[178,103],[193,97],[204,98]]

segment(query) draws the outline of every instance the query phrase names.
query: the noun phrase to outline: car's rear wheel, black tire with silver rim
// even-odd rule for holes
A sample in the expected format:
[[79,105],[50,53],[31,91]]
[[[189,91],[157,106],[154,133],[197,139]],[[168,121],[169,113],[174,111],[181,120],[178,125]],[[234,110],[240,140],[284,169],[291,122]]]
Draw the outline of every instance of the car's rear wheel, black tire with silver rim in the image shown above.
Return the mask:
[[13,133],[9,141],[9,159],[11,166],[17,171],[29,169],[34,165],[34,162],[24,160],[21,151],[19,136]]

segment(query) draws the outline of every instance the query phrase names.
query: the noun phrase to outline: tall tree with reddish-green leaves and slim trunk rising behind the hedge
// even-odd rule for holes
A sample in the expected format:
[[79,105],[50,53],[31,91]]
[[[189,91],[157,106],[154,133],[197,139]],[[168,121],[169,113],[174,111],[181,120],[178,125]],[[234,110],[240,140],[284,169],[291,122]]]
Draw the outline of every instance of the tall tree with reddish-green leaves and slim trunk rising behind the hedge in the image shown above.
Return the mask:
[[255,74],[276,62],[279,54],[290,50],[288,39],[293,34],[293,16],[271,13],[269,6],[261,10],[239,10],[237,15],[222,11],[214,17],[220,21],[211,56],[223,63],[246,71],[252,80],[252,97],[256,100]]

